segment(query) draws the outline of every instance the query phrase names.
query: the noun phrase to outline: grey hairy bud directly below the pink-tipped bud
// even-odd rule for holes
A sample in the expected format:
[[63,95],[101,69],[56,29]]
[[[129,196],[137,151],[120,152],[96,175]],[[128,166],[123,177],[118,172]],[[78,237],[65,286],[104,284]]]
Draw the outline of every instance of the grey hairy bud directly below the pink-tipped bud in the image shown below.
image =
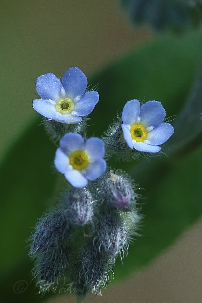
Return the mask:
[[103,247],[114,257],[121,255],[121,252],[127,254],[129,227],[120,212],[106,207],[99,213],[97,219],[95,230],[100,248]]

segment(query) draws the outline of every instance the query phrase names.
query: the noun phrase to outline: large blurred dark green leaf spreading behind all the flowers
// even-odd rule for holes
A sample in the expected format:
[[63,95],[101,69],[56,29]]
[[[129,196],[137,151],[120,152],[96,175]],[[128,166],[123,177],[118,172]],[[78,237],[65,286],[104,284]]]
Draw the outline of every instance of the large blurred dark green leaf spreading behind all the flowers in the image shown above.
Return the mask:
[[[176,115],[183,106],[196,72],[199,38],[200,34],[197,32],[190,32],[180,40],[169,36],[161,38],[133,50],[94,77],[92,84],[99,83],[100,102],[93,112],[94,126],[89,128],[89,135],[92,132],[101,135],[117,110],[121,112],[125,102],[132,98],[159,100],[166,108],[168,116]],[[51,168],[56,147],[49,142],[43,127],[37,126],[38,124],[39,120],[16,142],[1,167],[3,191],[0,233],[4,249],[1,250],[0,260],[3,261],[1,274],[5,290],[4,293],[2,291],[4,302],[15,300],[12,283],[18,280],[29,283],[28,289],[18,295],[21,303],[27,302],[27,298],[30,302],[41,299],[34,295],[37,291],[34,283],[30,285],[28,264],[31,265],[31,262],[26,256],[28,249],[24,249],[24,241],[31,234],[31,227],[37,218],[41,217],[41,212],[57,201],[58,185],[55,185],[57,175]],[[174,159],[167,157],[154,160],[152,164],[141,161],[133,171],[133,175],[137,172],[134,175],[136,181],[147,190],[147,204],[143,209],[146,225],[143,228],[144,237],[136,241],[134,246],[131,245],[130,253],[124,259],[124,267],[120,262],[115,267],[116,279],[141,268],[200,215],[197,192],[194,193],[191,206],[188,205],[188,200],[183,203],[184,198],[191,198],[194,180],[197,178],[195,173],[192,180],[186,181],[185,172],[190,173],[189,165],[197,162],[197,155],[191,155],[188,160],[184,160],[185,163],[182,160],[176,164]],[[116,163],[117,165],[124,169],[131,168],[131,163]],[[165,169],[161,171],[161,168]],[[157,178],[161,176],[156,174],[159,171],[164,178]],[[155,180],[154,176],[157,182],[151,183],[151,179]],[[175,180],[174,183],[172,180]],[[182,181],[180,184],[179,180]],[[198,180],[195,180],[195,184],[198,184]],[[179,197],[179,192],[184,187],[186,196]],[[165,208],[161,201],[164,201]],[[172,206],[171,209],[169,205]]]

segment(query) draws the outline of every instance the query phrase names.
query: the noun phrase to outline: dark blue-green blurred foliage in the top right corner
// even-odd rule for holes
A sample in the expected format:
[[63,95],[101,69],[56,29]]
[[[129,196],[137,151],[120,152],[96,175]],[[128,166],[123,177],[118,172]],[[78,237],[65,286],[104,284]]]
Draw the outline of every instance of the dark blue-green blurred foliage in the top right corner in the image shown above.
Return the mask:
[[146,23],[157,30],[182,31],[199,25],[202,17],[200,0],[122,0],[134,24]]

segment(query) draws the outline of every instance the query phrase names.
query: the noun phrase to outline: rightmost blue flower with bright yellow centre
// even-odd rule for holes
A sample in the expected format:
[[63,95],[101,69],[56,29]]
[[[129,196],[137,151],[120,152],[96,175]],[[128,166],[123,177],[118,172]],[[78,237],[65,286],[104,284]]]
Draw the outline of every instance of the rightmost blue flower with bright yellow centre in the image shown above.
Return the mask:
[[166,112],[161,102],[148,101],[140,107],[137,99],[128,101],[122,112],[122,130],[127,145],[138,151],[158,152],[174,133],[171,124],[163,122]]

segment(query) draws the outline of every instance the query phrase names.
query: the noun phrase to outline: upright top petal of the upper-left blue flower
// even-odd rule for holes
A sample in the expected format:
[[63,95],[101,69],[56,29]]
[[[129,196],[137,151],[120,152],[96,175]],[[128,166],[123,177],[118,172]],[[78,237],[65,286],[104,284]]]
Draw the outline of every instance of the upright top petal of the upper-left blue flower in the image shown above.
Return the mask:
[[71,99],[82,96],[87,88],[87,84],[86,75],[78,67],[69,68],[62,78],[62,85],[65,88],[66,95]]

